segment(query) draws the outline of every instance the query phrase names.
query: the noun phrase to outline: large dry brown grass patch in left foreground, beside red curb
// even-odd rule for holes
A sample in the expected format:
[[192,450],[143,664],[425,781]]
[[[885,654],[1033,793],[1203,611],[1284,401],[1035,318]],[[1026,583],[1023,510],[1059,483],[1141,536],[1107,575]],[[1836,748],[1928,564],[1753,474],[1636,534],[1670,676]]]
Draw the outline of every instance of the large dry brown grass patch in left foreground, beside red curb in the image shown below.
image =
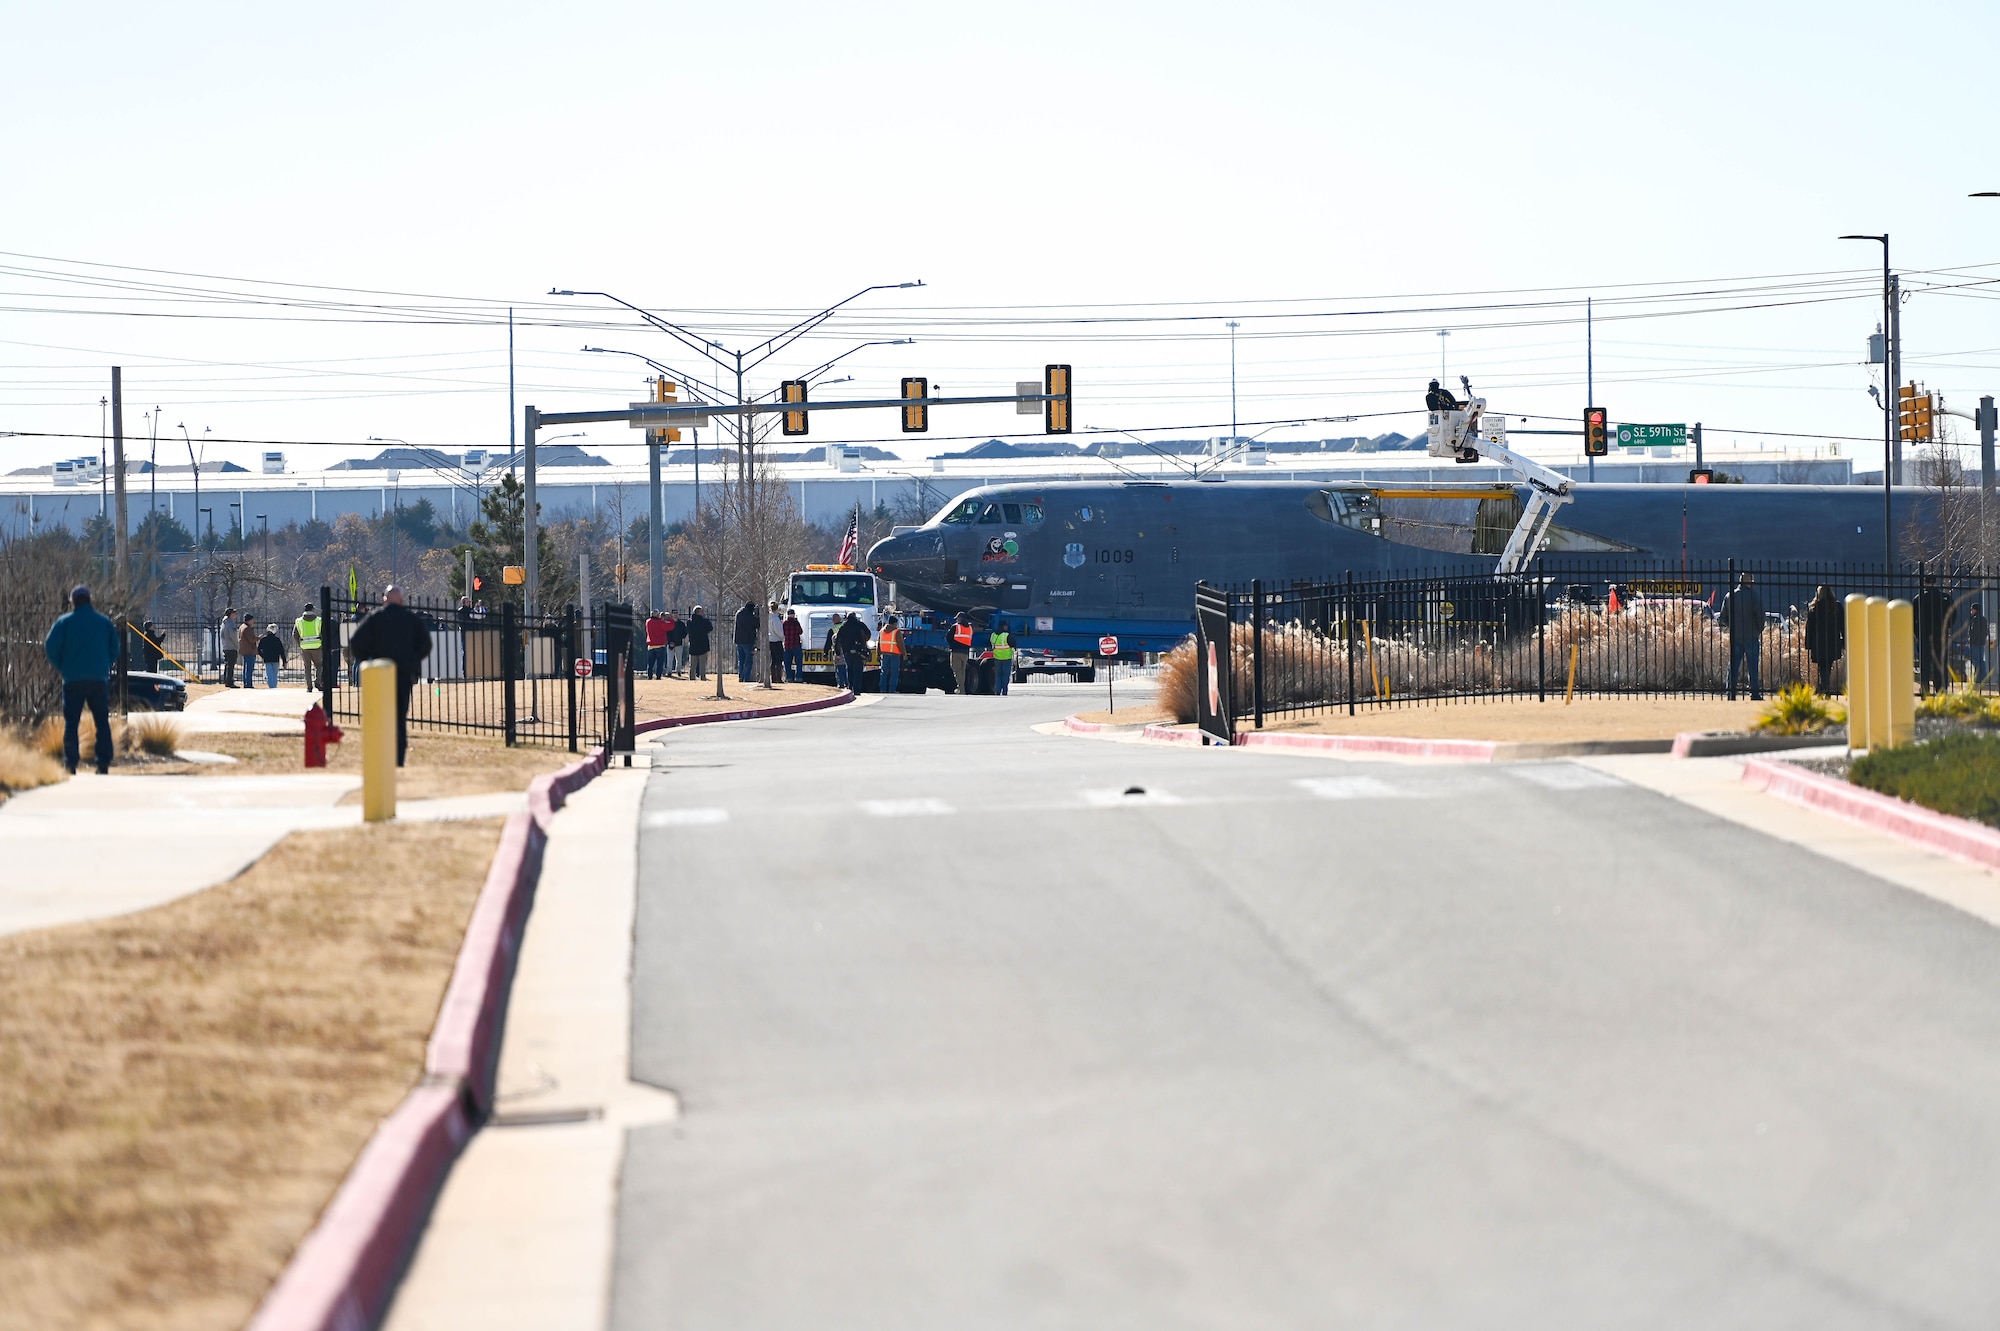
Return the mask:
[[498,821],[0,939],[0,1325],[240,1327],[422,1071]]

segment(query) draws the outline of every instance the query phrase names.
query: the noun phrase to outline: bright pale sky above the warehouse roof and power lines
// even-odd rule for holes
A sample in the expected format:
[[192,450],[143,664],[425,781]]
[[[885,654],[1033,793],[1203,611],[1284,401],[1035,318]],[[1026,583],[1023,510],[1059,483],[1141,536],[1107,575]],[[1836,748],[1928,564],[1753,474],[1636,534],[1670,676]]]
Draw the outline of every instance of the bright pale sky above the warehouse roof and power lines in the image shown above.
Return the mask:
[[1892,236],[1906,378],[2000,392],[1996,112],[1956,54],[1996,6],[12,4],[0,34],[0,470],[96,454],[112,364],[128,436],[244,440],[204,458],[504,448],[510,306],[516,412],[644,396],[586,344],[710,370],[552,288],[752,348],[916,280],[750,394],[914,338],[816,396],[1064,362],[1078,442],[1412,434],[1442,358],[1574,428],[1588,296],[1614,422],[1866,468],[1880,246],[1846,232]]

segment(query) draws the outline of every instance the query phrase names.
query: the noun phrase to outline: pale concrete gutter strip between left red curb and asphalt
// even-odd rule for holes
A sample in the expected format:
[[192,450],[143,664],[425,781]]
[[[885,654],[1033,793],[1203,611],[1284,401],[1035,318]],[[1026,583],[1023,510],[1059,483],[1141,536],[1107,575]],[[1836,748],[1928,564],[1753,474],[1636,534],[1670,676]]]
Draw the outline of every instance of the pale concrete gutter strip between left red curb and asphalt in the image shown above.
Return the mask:
[[626,1129],[678,1109],[630,1081],[632,827],[644,793],[644,767],[612,767],[556,813],[500,1047],[500,1115],[602,1117],[474,1135],[386,1331],[604,1327]]

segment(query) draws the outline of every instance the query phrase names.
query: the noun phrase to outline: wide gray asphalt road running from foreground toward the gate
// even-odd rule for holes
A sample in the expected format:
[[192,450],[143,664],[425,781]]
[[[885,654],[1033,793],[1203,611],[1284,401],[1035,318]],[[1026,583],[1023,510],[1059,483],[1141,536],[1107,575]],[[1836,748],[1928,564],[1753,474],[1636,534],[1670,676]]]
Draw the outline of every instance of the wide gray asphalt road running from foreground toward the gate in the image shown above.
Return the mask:
[[1036,693],[670,741],[616,1327],[2000,1321],[1988,925],[1578,763]]

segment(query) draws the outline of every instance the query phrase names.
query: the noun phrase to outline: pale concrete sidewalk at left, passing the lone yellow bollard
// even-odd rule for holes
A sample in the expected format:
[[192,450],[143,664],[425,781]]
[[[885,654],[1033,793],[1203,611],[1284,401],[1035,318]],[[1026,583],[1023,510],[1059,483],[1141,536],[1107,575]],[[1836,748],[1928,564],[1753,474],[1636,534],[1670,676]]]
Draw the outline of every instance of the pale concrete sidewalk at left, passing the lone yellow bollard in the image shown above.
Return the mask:
[[[352,827],[356,775],[76,775],[0,803],[0,933],[106,919],[224,883],[288,831]],[[406,799],[400,821],[500,817],[524,791]]]

